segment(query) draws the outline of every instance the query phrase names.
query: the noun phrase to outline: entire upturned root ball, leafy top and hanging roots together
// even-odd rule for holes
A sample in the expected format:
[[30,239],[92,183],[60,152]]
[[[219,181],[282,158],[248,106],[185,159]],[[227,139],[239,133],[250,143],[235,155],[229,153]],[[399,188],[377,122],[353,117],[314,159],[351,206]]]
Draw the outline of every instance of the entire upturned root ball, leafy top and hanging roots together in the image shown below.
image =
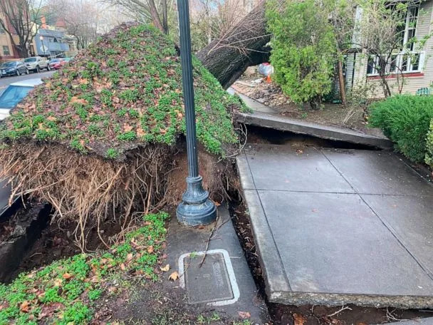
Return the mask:
[[[180,200],[187,176],[184,105],[174,43],[146,25],[123,24],[36,87],[1,124],[1,176],[13,196],[56,207],[75,221],[82,249],[90,227]],[[241,108],[194,60],[197,137],[204,186],[221,200],[231,186]],[[219,161],[219,162],[217,162]],[[90,226],[90,227],[89,227]]]

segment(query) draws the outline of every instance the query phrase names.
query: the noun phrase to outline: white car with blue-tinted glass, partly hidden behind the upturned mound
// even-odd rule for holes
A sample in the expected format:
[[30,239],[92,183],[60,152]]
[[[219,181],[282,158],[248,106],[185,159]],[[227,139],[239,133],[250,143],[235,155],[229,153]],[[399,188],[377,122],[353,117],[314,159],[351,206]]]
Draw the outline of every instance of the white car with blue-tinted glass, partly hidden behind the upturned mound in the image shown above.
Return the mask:
[[28,92],[42,83],[41,78],[27,79],[11,83],[0,96],[0,120],[9,116],[9,111],[14,108]]

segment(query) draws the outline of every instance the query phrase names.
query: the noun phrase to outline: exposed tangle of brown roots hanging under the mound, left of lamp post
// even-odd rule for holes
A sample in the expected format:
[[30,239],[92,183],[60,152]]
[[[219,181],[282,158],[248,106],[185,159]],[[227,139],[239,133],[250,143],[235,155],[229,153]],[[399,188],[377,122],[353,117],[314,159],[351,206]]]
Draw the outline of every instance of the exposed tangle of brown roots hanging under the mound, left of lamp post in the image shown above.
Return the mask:
[[76,221],[75,239],[84,249],[88,225],[99,228],[110,217],[127,226],[133,210],[164,204],[171,151],[149,146],[115,162],[56,145],[19,143],[0,150],[1,177],[11,177],[12,197],[38,197],[56,208],[53,220]]

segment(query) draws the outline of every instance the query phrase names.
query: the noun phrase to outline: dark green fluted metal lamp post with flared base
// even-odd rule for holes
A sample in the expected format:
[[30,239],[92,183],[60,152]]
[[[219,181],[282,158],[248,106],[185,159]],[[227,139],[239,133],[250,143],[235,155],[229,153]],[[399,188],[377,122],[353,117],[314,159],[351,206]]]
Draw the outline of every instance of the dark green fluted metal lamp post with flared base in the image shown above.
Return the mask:
[[188,177],[187,190],[177,206],[177,220],[184,225],[208,225],[216,220],[216,207],[202,187],[197,156],[197,137],[194,108],[194,78],[192,76],[191,33],[189,31],[188,0],[177,0],[179,10],[180,57],[184,88],[185,118],[187,121]]

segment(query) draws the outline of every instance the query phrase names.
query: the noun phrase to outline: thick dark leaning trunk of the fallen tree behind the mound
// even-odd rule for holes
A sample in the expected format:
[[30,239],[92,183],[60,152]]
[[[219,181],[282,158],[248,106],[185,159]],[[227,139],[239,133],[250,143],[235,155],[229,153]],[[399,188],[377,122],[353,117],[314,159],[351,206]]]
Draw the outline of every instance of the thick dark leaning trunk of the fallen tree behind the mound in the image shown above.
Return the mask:
[[229,88],[246,68],[268,61],[266,43],[270,39],[261,1],[237,26],[199,51],[197,58],[224,88]]

